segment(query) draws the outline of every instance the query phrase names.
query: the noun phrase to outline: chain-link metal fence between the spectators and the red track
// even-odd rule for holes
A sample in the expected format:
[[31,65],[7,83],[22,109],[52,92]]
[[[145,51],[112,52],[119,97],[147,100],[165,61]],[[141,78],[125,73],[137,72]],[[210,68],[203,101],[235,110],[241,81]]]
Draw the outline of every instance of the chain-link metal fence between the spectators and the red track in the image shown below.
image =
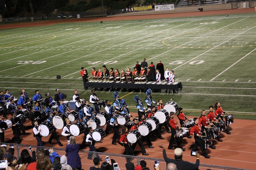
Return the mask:
[[[1,143],[1,144],[6,144],[7,150],[8,150],[8,148],[10,148],[10,143]],[[20,157],[20,152],[23,149],[27,149],[29,151],[29,147],[30,147],[29,145],[23,145],[23,144],[13,144],[13,146],[15,149],[14,156],[16,156],[17,158]],[[36,151],[37,149],[45,150],[45,149],[50,148],[50,147],[37,147],[37,146],[31,146],[31,147],[32,147],[32,150],[34,150],[34,151]],[[53,148],[53,150],[55,152],[57,152],[57,154],[59,154],[60,157],[62,155],[66,154],[65,149]],[[105,157],[109,156],[110,159],[114,159],[118,163],[121,170],[126,170],[125,163],[127,163],[127,160],[129,162],[133,162],[133,164],[135,166],[139,165],[140,161],[144,160],[147,162],[147,167],[149,167],[150,169],[154,169],[155,161],[158,160],[161,165],[161,169],[162,170],[166,169],[166,163],[165,163],[164,159],[138,157],[138,156],[127,156],[127,155],[110,154],[110,153],[102,153],[102,152],[79,151],[79,156],[81,158],[81,163],[82,163],[82,169],[84,169],[84,170],[88,170],[89,167],[93,166],[93,160],[87,159],[88,154],[93,154],[93,157],[96,157],[96,154],[98,154],[99,157],[102,158],[102,162],[105,162],[106,161]],[[30,152],[30,155],[32,156],[31,152]],[[207,164],[201,164],[201,163],[200,163],[199,169],[200,170],[207,170],[207,169],[211,169],[211,170],[246,170],[246,169],[240,169],[240,168],[234,168],[234,167],[207,165]]]

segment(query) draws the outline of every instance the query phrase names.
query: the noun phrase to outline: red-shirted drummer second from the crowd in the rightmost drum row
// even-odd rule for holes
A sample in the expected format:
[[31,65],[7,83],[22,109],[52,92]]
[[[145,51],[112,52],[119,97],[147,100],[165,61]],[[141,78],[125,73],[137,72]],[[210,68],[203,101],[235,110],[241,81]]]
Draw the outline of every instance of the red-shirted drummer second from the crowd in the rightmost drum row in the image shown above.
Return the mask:
[[[208,138],[211,138],[211,134],[209,132],[208,124],[213,125],[212,123],[208,123],[208,119],[206,117],[206,111],[202,110],[201,111],[201,116],[199,117],[198,125],[201,126],[201,132],[205,134]],[[211,145],[212,149],[215,149],[216,146]]]

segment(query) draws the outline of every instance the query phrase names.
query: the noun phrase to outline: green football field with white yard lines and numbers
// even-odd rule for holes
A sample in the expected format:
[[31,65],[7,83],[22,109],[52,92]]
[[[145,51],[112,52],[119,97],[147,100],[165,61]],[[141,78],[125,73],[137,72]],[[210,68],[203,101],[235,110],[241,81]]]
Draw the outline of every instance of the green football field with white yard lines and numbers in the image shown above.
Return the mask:
[[[103,70],[102,65],[121,72],[146,58],[148,65],[161,60],[183,86],[174,94],[153,93],[153,100],[172,98],[186,115],[198,116],[219,101],[235,119],[256,120],[255,37],[255,13],[0,30],[0,89],[18,98],[21,88],[29,97],[36,89],[44,95],[48,88],[54,96],[59,88],[68,100],[78,89],[89,100],[81,67],[89,75],[92,67]],[[112,94],[97,91],[102,100],[112,101]],[[139,92],[121,92],[120,97],[134,107],[136,94],[146,97]]]

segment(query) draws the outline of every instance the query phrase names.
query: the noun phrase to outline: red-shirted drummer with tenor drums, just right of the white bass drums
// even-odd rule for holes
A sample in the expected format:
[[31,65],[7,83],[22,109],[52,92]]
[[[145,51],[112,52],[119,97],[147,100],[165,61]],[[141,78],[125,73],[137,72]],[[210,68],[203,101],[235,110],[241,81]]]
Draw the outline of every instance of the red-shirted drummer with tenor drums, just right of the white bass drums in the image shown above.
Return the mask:
[[[172,136],[171,136],[171,139],[170,139],[170,142],[169,142],[168,149],[172,149],[172,150],[174,150],[173,142],[174,142],[174,138],[175,138],[175,135],[176,135],[176,129],[178,128],[177,123],[174,120],[174,114],[175,114],[174,112],[170,112],[170,120],[169,120],[169,125],[171,127]],[[180,144],[181,141],[176,141],[176,143],[177,143],[178,147],[182,149],[182,151],[186,150],[185,148],[182,148],[182,146]]]

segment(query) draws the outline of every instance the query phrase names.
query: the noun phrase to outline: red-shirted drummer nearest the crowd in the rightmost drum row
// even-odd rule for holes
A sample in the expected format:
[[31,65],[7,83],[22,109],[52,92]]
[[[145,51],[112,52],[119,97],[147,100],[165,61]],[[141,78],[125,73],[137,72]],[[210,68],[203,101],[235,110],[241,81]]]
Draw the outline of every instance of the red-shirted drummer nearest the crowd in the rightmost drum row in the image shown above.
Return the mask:
[[200,135],[202,132],[201,132],[200,125],[198,125],[199,120],[197,119],[197,117],[195,117],[193,120],[194,120],[195,124],[192,126],[192,128],[190,130],[190,135],[194,135],[195,144],[192,148],[192,151],[196,151],[197,147],[199,146],[200,150],[204,154],[204,158],[210,158],[210,155],[208,155],[207,152],[204,150],[203,142],[200,139]]

